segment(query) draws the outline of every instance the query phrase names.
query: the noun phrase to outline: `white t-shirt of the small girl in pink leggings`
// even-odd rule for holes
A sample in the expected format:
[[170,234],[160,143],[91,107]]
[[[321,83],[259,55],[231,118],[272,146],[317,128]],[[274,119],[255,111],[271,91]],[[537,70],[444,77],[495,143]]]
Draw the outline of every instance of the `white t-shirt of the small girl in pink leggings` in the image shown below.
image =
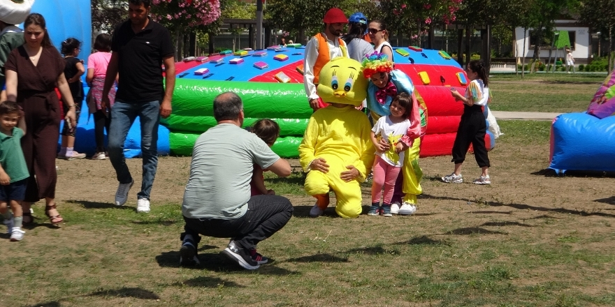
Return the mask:
[[388,116],[380,117],[378,121],[376,121],[372,131],[376,136],[379,135],[379,137],[389,140],[391,147],[385,152],[376,151],[376,155],[390,165],[401,167],[403,165],[404,151],[399,154],[395,153],[395,145],[397,145],[401,137],[406,135],[408,128],[410,128],[409,119],[405,119],[400,123],[393,123]]

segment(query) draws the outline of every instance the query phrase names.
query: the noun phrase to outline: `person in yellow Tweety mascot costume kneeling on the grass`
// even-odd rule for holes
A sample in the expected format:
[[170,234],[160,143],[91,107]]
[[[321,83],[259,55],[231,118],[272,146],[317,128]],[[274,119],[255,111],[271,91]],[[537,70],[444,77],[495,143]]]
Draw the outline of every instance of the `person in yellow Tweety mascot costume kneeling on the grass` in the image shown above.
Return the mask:
[[299,159],[307,172],[305,191],[316,198],[310,216],[321,216],[329,204],[329,190],[337,199],[335,212],[356,218],[361,207],[361,186],[374,162],[371,125],[356,110],[367,95],[361,63],[337,57],[321,68],[316,89],[327,107],[317,110],[307,123]]

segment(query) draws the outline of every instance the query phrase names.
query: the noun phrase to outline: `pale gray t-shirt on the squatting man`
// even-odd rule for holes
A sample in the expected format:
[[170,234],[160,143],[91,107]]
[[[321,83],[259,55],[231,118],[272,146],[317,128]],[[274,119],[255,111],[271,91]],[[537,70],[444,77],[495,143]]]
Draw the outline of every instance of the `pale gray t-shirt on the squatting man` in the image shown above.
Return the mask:
[[270,167],[280,159],[254,133],[222,123],[198,137],[182,214],[187,218],[240,218],[247,211],[254,163]]

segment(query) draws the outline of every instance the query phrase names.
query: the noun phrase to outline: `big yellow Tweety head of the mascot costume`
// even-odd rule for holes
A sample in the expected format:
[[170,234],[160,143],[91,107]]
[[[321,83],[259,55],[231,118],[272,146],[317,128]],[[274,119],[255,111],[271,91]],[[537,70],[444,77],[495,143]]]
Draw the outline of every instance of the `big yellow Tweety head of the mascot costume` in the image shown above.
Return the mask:
[[329,61],[320,70],[316,92],[326,103],[358,107],[368,92],[368,80],[363,77],[361,63],[346,57]]

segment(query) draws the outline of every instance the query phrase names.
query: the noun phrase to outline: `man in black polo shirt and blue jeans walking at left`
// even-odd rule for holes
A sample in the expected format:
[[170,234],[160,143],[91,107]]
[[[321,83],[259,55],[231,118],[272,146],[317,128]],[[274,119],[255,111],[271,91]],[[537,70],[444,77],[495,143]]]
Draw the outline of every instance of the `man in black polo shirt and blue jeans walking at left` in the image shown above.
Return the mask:
[[[107,68],[101,106],[109,105],[108,93],[115,76],[120,74],[115,104],[111,108],[109,129],[109,158],[120,186],[115,204],[126,203],[134,181],[124,158],[124,142],[136,117],[141,127],[143,182],[137,194],[137,212],[150,212],[150,191],[158,166],[157,141],[160,117],[171,114],[171,97],[175,87],[174,49],[171,34],[150,13],[150,0],[129,0],[129,20],[118,24],[113,31],[111,59]],[[162,65],[166,70],[163,87]]]

